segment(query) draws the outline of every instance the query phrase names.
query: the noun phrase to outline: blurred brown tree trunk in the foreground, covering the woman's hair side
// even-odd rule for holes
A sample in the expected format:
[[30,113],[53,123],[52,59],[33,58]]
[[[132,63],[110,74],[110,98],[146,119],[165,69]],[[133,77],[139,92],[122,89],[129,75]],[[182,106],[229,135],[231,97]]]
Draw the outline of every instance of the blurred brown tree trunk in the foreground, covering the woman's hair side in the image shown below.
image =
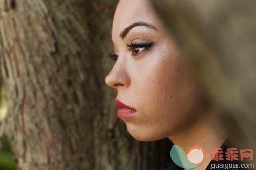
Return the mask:
[[255,150],[256,2],[152,3],[220,110],[232,144]]

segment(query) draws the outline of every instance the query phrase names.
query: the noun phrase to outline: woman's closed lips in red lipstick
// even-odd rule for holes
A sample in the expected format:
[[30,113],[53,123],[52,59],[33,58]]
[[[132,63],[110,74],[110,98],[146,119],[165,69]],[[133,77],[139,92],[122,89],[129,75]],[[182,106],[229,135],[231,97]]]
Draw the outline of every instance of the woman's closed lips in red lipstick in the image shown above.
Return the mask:
[[126,118],[126,117],[130,117],[131,115],[133,115],[136,110],[123,104],[121,101],[119,101],[118,99],[115,100],[115,103],[118,107],[117,110],[117,116],[122,119],[122,118]]

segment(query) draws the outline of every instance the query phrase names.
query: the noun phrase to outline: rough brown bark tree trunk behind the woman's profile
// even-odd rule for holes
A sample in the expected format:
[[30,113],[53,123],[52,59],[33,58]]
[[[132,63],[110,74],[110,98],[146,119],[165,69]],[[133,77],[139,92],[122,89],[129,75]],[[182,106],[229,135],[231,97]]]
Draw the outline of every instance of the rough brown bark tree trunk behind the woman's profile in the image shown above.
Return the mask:
[[159,169],[171,143],[139,142],[104,78],[117,1],[2,0],[0,64],[18,169]]

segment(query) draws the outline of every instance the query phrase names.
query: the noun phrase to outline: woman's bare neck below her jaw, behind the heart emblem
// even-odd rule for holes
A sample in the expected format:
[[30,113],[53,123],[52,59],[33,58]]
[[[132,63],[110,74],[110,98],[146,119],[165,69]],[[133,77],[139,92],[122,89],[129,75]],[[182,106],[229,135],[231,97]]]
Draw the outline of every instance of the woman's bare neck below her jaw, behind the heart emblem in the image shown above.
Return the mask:
[[194,168],[195,170],[204,170],[211,161],[212,148],[220,148],[227,138],[227,133],[224,131],[225,128],[218,118],[218,114],[209,112],[207,115],[207,117],[198,119],[188,128],[168,137],[175,145],[179,145],[185,153],[195,145],[204,148],[205,160],[200,166]]

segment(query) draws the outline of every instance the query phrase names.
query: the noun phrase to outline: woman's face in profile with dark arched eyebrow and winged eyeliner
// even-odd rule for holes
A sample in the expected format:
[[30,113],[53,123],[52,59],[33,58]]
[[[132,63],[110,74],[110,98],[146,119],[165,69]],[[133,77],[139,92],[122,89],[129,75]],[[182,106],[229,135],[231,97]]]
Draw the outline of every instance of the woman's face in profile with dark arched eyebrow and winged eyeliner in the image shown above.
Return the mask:
[[135,139],[160,140],[195,121],[198,84],[150,2],[119,1],[112,41],[117,60],[105,82],[136,110],[122,119]]

